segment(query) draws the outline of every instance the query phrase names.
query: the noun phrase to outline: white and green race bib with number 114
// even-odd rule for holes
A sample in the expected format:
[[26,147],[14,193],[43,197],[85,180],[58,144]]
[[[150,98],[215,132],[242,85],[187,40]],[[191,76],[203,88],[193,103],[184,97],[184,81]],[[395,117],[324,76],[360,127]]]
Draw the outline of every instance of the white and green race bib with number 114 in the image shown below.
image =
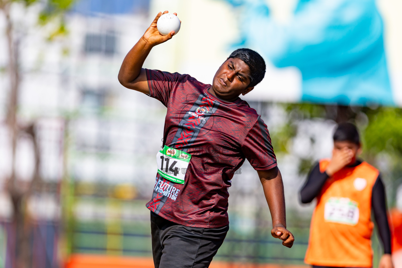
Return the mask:
[[184,184],[184,177],[186,176],[190,159],[191,155],[189,153],[165,145],[156,154],[158,173],[166,180]]

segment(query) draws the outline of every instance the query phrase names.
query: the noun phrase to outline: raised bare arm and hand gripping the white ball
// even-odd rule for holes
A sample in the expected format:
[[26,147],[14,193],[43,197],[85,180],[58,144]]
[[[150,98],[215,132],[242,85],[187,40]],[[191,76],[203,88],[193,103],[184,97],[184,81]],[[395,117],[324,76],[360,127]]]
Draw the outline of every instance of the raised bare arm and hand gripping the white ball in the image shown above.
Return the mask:
[[[171,31],[168,35],[161,35],[156,28],[156,23],[159,17],[165,13],[168,13],[168,11],[166,10],[163,13],[159,12],[158,15],[156,15],[151,26],[145,31],[144,35],[139,39],[129,53],[127,53],[123,63],[121,63],[117,78],[119,79],[120,84],[126,88],[150,94],[147,75],[145,69],[142,68],[142,65],[152,47],[168,41],[174,35],[174,31]],[[177,15],[176,13],[173,14]]]

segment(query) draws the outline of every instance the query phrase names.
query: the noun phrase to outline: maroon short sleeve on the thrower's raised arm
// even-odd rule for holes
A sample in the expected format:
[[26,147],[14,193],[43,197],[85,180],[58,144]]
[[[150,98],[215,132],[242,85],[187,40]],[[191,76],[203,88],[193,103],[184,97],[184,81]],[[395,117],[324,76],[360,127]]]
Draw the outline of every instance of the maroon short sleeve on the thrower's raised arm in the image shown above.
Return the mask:
[[150,89],[150,96],[156,98],[164,106],[168,105],[170,93],[176,88],[178,80],[182,76],[178,73],[168,73],[159,70],[145,69],[148,80],[148,87]]

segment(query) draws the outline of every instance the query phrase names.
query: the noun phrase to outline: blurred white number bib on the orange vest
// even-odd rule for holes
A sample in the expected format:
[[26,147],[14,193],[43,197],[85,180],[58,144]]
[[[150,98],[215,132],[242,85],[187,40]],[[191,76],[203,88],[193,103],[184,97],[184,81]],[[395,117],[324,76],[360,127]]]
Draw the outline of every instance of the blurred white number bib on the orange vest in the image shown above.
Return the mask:
[[359,221],[359,204],[345,197],[331,197],[325,203],[324,219],[336,223],[356,225]]

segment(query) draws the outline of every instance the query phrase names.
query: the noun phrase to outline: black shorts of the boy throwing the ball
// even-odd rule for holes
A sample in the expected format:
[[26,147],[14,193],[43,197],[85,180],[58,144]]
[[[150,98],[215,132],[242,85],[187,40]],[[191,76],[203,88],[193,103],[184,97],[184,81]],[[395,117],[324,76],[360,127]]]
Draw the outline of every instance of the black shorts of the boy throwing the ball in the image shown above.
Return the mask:
[[187,227],[151,211],[152,255],[155,268],[206,268],[222,245],[229,225]]

